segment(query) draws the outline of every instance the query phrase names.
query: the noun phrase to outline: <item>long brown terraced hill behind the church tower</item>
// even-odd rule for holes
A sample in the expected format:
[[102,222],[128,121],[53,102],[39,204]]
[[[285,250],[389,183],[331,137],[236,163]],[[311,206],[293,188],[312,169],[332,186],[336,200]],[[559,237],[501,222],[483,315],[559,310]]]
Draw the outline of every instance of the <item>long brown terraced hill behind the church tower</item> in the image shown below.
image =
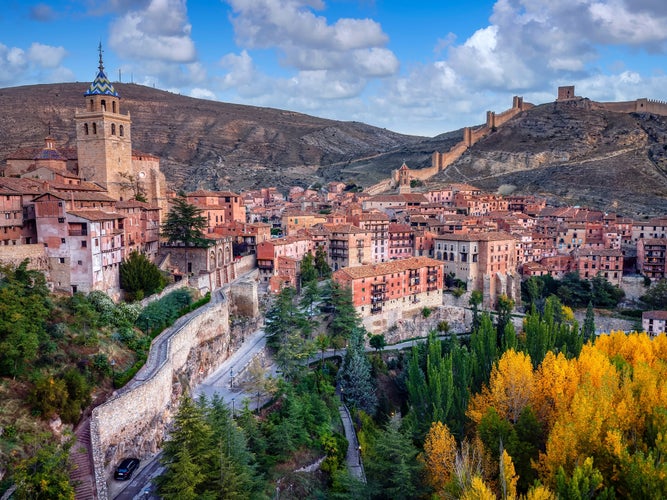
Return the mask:
[[[49,130],[59,146],[74,146],[74,111],[83,107],[87,86],[0,89],[0,162],[19,147],[43,145]],[[132,116],[134,149],[160,157],[177,189],[286,187],[321,181],[321,176],[342,180],[354,174],[343,170],[356,159],[374,158],[377,166],[384,154],[391,163],[376,170],[388,174],[404,157],[412,159],[413,147],[423,156],[420,165],[430,162],[436,147],[448,147],[447,141],[435,140],[420,148],[421,137],[363,123],[193,99],[135,84],[114,86],[121,112]]]

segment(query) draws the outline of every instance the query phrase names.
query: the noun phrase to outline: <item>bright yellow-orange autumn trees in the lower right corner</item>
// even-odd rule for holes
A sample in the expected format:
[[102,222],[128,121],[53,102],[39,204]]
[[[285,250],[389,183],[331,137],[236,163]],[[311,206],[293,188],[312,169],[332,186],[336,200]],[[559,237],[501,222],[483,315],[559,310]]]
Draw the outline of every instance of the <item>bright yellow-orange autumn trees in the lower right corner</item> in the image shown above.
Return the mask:
[[[526,447],[526,411],[543,433],[534,449]],[[487,496],[479,481],[494,498],[667,496],[664,334],[612,332],[584,345],[577,357],[550,351],[536,368],[528,354],[510,349],[494,365],[488,384],[470,398],[467,415],[498,466],[497,476],[477,479],[475,498]],[[440,435],[439,429],[434,424],[427,440]],[[436,441],[451,454],[443,438]],[[427,464],[436,456],[431,449],[425,446]],[[539,488],[522,484],[519,467],[515,470],[515,464],[525,466],[526,450]],[[437,481],[430,483],[442,490]]]

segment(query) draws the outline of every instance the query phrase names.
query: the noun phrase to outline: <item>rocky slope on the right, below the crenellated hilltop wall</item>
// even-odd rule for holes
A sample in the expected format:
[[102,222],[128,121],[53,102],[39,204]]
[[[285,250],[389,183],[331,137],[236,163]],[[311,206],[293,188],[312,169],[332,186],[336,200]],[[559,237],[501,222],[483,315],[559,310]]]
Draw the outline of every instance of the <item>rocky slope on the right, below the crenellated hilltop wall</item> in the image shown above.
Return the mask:
[[590,104],[584,99],[528,110],[432,181],[537,194],[629,216],[667,213],[667,117]]

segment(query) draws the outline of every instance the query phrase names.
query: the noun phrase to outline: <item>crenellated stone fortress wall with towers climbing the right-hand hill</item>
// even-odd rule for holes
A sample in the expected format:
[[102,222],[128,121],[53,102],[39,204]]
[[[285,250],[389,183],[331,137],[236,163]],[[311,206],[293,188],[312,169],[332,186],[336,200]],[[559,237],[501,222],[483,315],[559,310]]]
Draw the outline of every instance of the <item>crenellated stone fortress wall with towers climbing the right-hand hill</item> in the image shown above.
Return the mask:
[[[665,101],[647,99],[645,97],[635,99],[634,101],[622,102],[591,101],[586,97],[577,96],[574,91],[574,85],[558,87],[558,93],[555,102],[570,102],[583,109],[589,110],[605,110],[614,113],[652,113],[655,115],[667,116],[667,102]],[[498,127],[503,126],[519,113],[534,107],[534,104],[524,102],[523,97],[514,96],[512,99],[511,108],[501,113],[487,111],[486,123],[484,125],[477,128],[464,127],[463,140],[455,144],[452,148],[450,148],[449,151],[435,151],[431,157],[430,167],[411,170],[407,167],[407,165],[403,164],[400,168],[392,172],[392,176],[390,178],[384,179],[377,184],[369,186],[364,191],[370,195],[376,195],[391,189],[398,189],[399,192],[403,193],[409,192],[410,181],[427,180],[438,172],[445,170],[452,163],[458,160],[463,155],[463,153],[473,144],[477,143],[491,132],[494,132]]]

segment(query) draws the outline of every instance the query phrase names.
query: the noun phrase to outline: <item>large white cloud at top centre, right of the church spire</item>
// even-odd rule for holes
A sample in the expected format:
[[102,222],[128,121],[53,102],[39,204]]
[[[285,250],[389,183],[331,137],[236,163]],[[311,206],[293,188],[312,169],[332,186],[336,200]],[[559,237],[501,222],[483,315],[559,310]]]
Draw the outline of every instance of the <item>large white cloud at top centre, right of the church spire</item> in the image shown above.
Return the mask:
[[372,19],[329,23],[313,12],[324,8],[319,1],[228,3],[237,43],[244,49],[278,49],[282,66],[295,71],[291,80],[281,82],[292,92],[311,92],[313,99],[349,98],[372,79],[398,72],[398,59],[385,47],[389,37]]

